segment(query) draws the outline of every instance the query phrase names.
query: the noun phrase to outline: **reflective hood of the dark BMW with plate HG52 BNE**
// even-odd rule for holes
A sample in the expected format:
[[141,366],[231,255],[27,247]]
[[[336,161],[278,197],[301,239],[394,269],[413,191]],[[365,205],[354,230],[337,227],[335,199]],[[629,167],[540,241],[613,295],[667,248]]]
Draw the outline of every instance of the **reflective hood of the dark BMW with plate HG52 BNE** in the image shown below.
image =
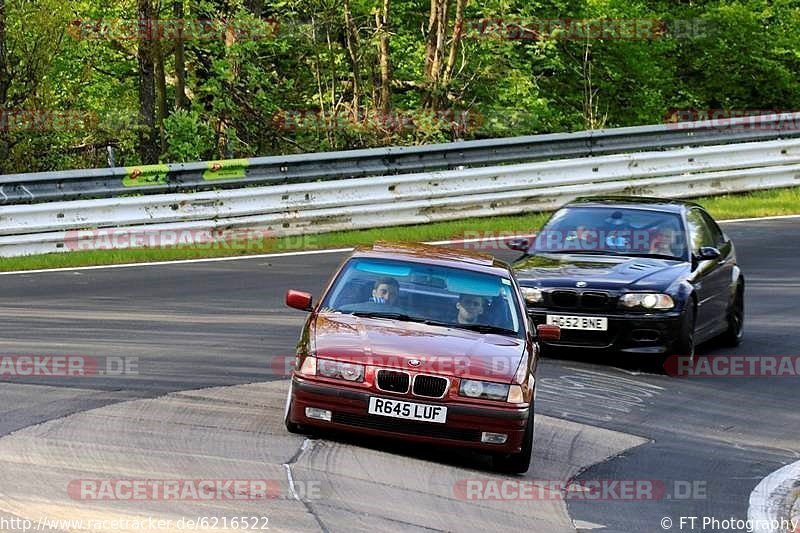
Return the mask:
[[646,257],[540,254],[513,264],[522,286],[665,290],[689,269],[685,261]]

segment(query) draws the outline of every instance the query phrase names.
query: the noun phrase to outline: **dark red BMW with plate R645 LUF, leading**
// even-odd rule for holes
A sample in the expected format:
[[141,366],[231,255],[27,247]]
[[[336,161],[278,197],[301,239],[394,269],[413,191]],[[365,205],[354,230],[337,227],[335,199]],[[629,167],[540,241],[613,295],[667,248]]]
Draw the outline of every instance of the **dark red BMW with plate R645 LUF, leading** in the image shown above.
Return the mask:
[[539,346],[510,267],[490,256],[378,243],[355,251],[310,312],[286,401],[290,432],[328,427],[475,448],[524,473]]

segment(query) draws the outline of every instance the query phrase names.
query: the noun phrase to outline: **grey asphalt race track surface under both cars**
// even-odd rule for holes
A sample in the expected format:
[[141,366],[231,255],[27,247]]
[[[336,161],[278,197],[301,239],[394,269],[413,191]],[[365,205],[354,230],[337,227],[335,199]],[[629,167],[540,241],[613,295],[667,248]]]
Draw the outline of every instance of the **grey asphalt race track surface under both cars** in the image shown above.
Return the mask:
[[[745,341],[701,355],[798,355],[798,225],[725,224],[747,279]],[[638,533],[663,531],[669,517],[677,531],[681,516],[746,518],[759,481],[800,459],[798,377],[674,378],[590,355],[543,362],[524,477],[498,476],[468,452],[290,435],[283,369],[304,316],[284,307],[284,293],[318,295],[343,257],[0,275],[0,355],[133,362],[123,375],[0,378],[0,519],[260,516],[278,531]],[[144,478],[265,479],[274,493],[92,501],[69,488]],[[542,487],[571,478],[657,490],[601,499],[577,490],[566,501],[463,491],[469,480]],[[66,529],[88,530],[51,530]]]

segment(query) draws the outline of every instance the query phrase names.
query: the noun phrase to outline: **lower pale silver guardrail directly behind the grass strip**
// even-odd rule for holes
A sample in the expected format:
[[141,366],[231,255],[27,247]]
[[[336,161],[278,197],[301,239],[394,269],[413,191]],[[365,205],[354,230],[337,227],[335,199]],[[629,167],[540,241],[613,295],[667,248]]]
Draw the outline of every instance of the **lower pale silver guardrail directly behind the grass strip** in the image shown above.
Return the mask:
[[86,249],[75,242],[78,232],[96,228],[114,228],[116,236],[235,228],[291,236],[549,210],[587,194],[691,197],[794,185],[800,139],[22,204],[0,210],[0,257]]

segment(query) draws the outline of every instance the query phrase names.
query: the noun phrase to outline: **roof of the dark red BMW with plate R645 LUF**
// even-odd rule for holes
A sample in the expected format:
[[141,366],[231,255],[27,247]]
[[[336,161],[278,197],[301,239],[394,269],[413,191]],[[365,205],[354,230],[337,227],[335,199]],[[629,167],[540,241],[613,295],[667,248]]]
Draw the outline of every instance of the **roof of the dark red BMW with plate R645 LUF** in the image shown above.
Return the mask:
[[418,243],[376,242],[371,247],[359,247],[353,257],[380,257],[382,259],[399,259],[432,263],[439,266],[464,268],[488,274],[508,276],[510,268],[507,263],[495,259],[491,255],[432,246]]

